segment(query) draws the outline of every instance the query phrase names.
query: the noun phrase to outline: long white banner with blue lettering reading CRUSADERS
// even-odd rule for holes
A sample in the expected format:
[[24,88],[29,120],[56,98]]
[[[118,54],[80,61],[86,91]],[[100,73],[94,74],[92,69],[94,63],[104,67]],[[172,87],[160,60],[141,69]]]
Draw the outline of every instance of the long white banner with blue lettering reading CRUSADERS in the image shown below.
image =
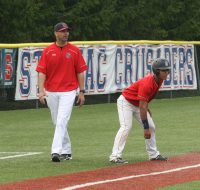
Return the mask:
[[[166,58],[171,71],[161,90],[197,89],[194,45],[78,45],[88,65],[87,94],[120,92],[152,72],[153,59]],[[37,99],[38,60],[44,47],[19,48],[16,100]]]

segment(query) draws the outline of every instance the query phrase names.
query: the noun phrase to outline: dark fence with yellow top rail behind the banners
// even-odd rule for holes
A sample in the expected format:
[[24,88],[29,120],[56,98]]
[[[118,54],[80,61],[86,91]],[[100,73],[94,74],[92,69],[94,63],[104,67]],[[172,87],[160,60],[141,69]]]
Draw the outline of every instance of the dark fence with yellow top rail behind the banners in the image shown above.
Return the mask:
[[[168,90],[160,91],[156,98],[176,98],[189,97],[200,95],[200,42],[198,41],[98,41],[98,42],[72,42],[73,44],[193,44],[194,45],[194,59],[197,78],[197,89],[193,90]],[[35,43],[35,44],[0,44],[0,48],[19,48],[29,46],[47,46],[49,43]],[[16,71],[14,71],[16,72]],[[16,77],[16,73],[14,73]],[[10,109],[26,109],[26,108],[40,108],[44,107],[38,100],[15,100],[15,86],[8,88],[6,86],[0,88],[0,110]],[[96,103],[113,103],[116,102],[120,92],[99,95],[86,95],[86,104]]]

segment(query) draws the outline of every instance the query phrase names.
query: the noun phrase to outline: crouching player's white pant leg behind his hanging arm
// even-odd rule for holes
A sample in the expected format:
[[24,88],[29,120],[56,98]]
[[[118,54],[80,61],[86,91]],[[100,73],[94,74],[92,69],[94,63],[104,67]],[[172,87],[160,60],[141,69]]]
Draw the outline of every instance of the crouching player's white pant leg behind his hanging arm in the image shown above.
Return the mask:
[[[141,124],[143,128],[143,123],[140,118],[140,113],[138,112],[134,114],[134,117],[138,120],[138,122]],[[149,159],[157,157],[160,153],[157,150],[156,146],[156,136],[155,136],[155,124],[153,122],[152,117],[150,116],[149,112],[147,113],[147,120],[149,123],[149,129],[151,131],[151,138],[150,139],[145,139],[145,144],[146,144],[146,150],[149,156]]]

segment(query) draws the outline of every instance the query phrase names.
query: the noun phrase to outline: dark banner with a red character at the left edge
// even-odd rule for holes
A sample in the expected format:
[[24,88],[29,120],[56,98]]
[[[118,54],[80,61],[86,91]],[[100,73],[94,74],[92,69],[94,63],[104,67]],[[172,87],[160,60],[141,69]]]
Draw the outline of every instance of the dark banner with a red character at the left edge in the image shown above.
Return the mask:
[[0,87],[15,87],[17,49],[0,49]]

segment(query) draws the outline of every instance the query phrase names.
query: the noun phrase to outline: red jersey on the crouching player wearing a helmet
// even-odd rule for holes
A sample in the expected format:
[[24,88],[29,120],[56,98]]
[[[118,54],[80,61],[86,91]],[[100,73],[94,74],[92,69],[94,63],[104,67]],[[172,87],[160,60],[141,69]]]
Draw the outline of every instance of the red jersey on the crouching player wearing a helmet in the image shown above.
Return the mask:
[[130,87],[126,88],[122,95],[134,106],[139,106],[139,101],[150,102],[157,94],[163,80],[158,85],[152,74],[136,81]]

